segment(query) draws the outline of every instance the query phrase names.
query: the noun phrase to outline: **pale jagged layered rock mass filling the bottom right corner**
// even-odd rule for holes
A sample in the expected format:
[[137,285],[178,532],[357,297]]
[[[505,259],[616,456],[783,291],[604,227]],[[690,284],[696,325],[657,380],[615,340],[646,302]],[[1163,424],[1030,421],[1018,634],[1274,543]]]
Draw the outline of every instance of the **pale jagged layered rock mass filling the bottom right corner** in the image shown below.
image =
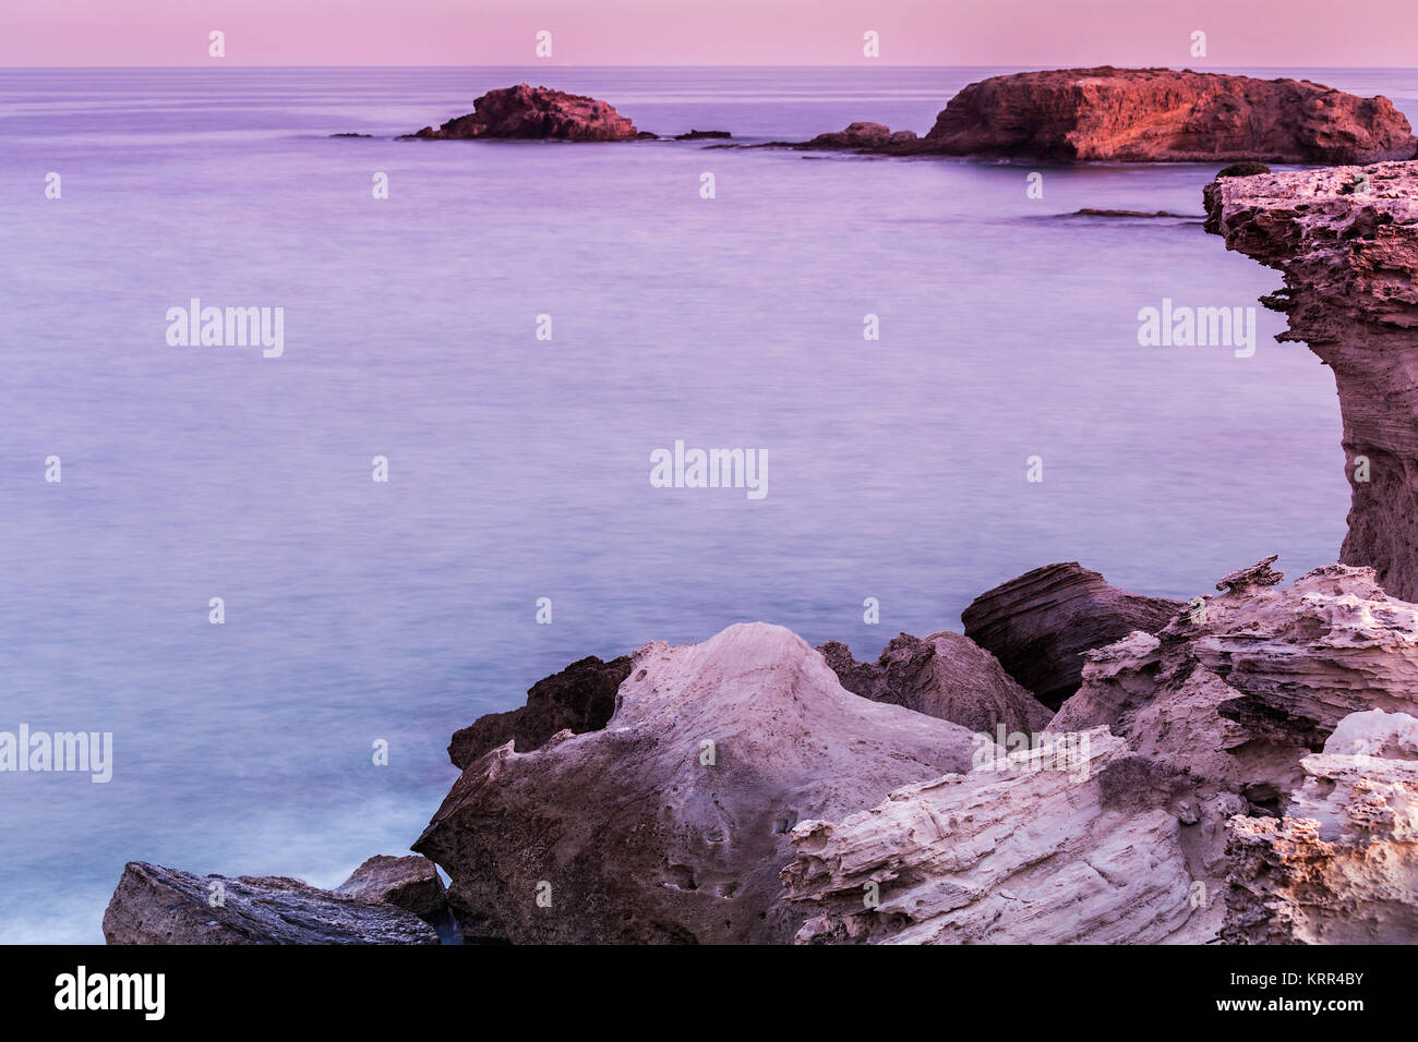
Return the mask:
[[[797,940],[1198,943],[1224,914],[1232,941],[1418,940],[1418,730],[1373,712],[1418,712],[1418,605],[1343,564],[1278,588],[1272,561],[1089,652],[1004,764],[801,822]],[[1402,763],[1330,758],[1356,741]]]

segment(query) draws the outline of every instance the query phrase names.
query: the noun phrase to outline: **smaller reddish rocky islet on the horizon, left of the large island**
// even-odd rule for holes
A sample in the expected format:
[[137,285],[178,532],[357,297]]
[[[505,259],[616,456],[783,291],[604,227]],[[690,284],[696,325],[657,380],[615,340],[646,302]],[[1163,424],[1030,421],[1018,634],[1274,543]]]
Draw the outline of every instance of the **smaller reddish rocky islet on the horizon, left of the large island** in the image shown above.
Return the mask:
[[634,140],[635,125],[607,102],[549,86],[518,84],[488,91],[472,112],[450,119],[437,130],[425,126],[411,138],[462,140],[472,138],[556,139],[571,142]]

